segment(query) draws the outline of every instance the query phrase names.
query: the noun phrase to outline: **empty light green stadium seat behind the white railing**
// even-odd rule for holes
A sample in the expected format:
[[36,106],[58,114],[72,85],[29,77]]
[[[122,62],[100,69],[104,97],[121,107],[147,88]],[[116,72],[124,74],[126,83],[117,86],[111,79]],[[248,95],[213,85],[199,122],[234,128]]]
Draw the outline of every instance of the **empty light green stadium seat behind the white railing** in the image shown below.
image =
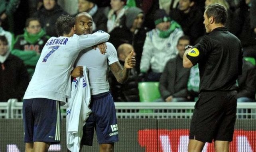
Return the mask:
[[152,102],[161,97],[159,82],[139,82],[140,102]]

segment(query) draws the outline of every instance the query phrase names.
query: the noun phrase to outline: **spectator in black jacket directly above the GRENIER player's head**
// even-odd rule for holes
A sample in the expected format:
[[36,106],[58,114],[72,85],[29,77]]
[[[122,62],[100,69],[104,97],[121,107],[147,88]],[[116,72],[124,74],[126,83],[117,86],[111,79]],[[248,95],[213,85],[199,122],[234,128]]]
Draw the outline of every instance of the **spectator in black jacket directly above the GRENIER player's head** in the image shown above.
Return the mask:
[[57,4],[57,0],[43,0],[43,7],[37,10],[33,17],[39,19],[47,35],[57,37],[55,22],[62,14],[67,13]]

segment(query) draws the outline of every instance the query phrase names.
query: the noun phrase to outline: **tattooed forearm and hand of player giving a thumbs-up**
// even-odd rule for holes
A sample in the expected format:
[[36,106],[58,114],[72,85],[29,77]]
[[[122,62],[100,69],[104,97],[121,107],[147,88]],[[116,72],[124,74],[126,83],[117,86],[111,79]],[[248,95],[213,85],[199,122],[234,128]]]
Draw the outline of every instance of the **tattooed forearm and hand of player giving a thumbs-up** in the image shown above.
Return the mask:
[[116,80],[123,84],[129,77],[130,68],[135,67],[136,59],[132,57],[134,51],[132,51],[124,60],[124,67],[122,68],[119,61],[110,64],[110,70],[114,74]]

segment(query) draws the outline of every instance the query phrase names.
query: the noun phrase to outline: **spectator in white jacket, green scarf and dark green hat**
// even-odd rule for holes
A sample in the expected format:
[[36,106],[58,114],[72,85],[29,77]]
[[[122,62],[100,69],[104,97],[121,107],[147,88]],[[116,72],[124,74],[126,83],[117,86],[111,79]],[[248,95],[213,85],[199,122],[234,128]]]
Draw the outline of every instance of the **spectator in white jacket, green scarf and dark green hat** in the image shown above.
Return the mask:
[[140,76],[144,77],[148,73],[145,80],[157,82],[166,62],[178,54],[176,46],[183,31],[180,25],[171,20],[164,10],[156,11],[154,19],[156,28],[147,33],[143,46]]

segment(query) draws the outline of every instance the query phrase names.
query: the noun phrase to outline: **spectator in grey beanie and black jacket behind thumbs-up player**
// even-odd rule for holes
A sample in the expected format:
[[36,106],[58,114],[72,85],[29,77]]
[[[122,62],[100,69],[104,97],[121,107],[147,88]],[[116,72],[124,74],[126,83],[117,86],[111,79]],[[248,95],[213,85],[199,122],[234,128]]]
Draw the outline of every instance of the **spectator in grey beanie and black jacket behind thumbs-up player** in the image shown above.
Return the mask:
[[115,27],[109,34],[111,42],[116,49],[123,43],[129,43],[136,53],[136,71],[140,73],[140,60],[147,28],[143,27],[144,14],[140,8],[132,7],[125,11],[124,24]]

